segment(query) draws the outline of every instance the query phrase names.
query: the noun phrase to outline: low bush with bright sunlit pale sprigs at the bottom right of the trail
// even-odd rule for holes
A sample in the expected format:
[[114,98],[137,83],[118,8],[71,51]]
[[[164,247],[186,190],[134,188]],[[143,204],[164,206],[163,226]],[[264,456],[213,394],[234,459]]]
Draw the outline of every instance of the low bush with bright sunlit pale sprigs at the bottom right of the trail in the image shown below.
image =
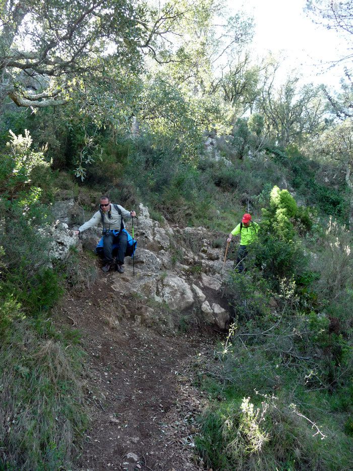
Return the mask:
[[[214,404],[202,415],[202,435],[196,444],[208,466],[222,471],[335,469],[337,461],[331,462],[331,443],[313,437],[317,426],[312,428],[310,419],[306,421],[295,405],[285,406],[269,396],[261,403],[254,399],[255,405],[250,397]],[[343,441],[351,456],[349,443]],[[349,469],[348,457],[337,453],[335,459],[341,469]]]

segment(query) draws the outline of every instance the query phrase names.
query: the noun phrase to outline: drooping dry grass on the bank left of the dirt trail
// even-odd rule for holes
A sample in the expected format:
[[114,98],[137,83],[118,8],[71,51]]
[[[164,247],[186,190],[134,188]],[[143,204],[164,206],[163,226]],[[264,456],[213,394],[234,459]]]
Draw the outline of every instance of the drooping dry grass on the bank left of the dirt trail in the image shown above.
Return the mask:
[[29,322],[2,345],[0,468],[48,471],[70,462],[86,426],[74,358],[71,346],[38,338]]

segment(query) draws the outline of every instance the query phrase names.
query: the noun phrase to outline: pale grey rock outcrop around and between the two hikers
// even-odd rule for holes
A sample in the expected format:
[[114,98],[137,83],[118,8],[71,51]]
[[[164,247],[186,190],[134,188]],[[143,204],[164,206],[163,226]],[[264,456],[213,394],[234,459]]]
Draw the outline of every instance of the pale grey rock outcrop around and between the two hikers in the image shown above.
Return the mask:
[[[66,203],[70,211],[72,202]],[[64,207],[61,205],[60,209],[64,217]],[[212,235],[203,227],[172,228],[166,221],[162,227],[150,218],[143,204],[139,213],[134,221],[138,240],[134,260],[126,257],[124,274],[109,275],[111,289],[122,295],[138,295],[164,303],[179,312],[197,309],[205,322],[224,330],[229,312],[218,302],[224,278],[233,266],[227,261],[222,273],[224,248],[212,247]],[[127,221],[126,226],[131,233],[131,222]],[[52,228],[52,234],[55,240],[52,256],[65,258],[71,245],[79,250],[82,247],[93,250],[101,237],[101,228],[91,228],[78,237],[66,223],[60,222]]]

